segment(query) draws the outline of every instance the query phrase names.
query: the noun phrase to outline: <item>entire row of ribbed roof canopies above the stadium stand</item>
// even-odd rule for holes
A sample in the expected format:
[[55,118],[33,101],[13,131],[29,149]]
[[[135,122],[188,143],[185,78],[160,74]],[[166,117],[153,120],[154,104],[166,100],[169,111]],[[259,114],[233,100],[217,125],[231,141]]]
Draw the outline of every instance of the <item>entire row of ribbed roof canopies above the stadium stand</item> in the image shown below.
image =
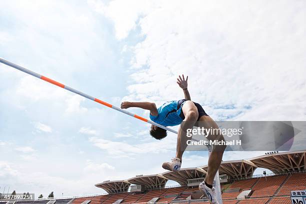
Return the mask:
[[[249,159],[222,161],[219,174],[232,178],[252,176],[257,167],[267,168],[274,173],[306,169],[306,150],[273,152]],[[175,180],[185,185],[188,179],[204,177],[207,165],[192,168],[181,168],[179,172],[166,171],[154,175],[138,175],[127,180],[105,181],[95,184],[108,193],[126,192],[129,185],[143,185],[146,189],[164,188],[165,183]]]

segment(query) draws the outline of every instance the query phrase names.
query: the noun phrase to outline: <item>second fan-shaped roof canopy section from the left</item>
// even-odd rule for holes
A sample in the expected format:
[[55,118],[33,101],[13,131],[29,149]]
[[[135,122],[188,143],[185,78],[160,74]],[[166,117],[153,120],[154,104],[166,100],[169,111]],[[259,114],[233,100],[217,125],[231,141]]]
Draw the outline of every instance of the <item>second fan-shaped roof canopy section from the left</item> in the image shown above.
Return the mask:
[[144,185],[147,189],[164,188],[168,178],[161,174],[138,175],[127,179],[128,182],[136,185]]

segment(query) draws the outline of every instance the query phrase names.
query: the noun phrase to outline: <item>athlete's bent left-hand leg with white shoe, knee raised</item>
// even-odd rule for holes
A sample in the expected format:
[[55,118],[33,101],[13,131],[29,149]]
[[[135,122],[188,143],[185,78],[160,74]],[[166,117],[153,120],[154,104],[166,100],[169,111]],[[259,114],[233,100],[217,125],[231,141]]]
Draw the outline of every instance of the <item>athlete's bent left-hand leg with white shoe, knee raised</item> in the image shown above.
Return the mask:
[[186,142],[188,137],[186,136],[186,130],[193,127],[198,117],[197,108],[191,100],[184,102],[182,111],[185,118],[178,129],[175,158],[173,158],[171,162],[164,162],[162,164],[163,168],[171,171],[178,171],[180,169],[182,154],[187,147]]

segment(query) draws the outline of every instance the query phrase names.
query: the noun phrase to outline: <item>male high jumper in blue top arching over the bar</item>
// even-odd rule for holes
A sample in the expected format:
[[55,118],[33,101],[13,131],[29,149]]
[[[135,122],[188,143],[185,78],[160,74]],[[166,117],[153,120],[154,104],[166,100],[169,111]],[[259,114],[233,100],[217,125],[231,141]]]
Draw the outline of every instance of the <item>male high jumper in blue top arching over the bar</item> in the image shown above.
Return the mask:
[[[214,120],[206,114],[200,104],[191,101],[189,91],[187,89],[187,80],[188,76],[185,79],[184,75],[182,75],[182,77],[179,76],[176,81],[179,87],[183,89],[185,99],[168,101],[158,108],[156,108],[156,105],[153,102],[124,101],[121,103],[121,108],[140,107],[142,109],[149,110],[150,119],[163,126],[175,126],[180,124],[177,134],[175,158],[172,158],[170,162],[164,162],[162,164],[163,168],[171,171],[179,171],[180,169],[182,154],[187,147],[186,141],[188,137],[186,136],[186,130],[188,128],[192,128],[193,125],[198,125],[204,128],[219,128]],[[217,131],[217,134],[207,135],[207,139],[223,141],[223,135],[219,132],[220,131]],[[150,134],[156,139],[162,139],[167,135],[165,129],[155,125],[151,125]],[[199,189],[206,194],[206,197],[210,203],[218,204],[212,183],[214,175],[221,163],[225,148],[226,145],[213,146],[213,150],[208,159],[208,169],[205,180],[199,184]]]

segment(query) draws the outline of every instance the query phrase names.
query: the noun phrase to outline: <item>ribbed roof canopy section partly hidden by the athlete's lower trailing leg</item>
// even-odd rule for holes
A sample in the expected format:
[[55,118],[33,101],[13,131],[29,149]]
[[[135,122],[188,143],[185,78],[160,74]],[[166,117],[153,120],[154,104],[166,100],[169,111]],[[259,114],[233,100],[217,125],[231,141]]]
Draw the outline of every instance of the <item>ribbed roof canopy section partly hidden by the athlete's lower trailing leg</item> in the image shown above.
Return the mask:
[[[208,165],[201,166],[207,171]],[[219,174],[226,174],[232,178],[251,176],[257,166],[249,160],[222,161],[219,167]]]

